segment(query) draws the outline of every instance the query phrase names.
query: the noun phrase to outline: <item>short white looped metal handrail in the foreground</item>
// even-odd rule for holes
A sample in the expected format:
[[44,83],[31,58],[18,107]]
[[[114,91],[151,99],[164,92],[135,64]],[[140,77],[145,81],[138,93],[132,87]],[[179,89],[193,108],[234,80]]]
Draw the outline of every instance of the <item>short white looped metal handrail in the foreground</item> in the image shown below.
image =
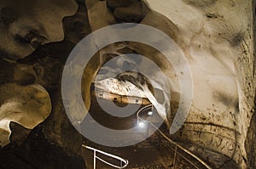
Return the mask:
[[[84,147],[85,149],[90,149],[90,150],[94,151],[94,153],[93,153],[93,168],[94,169],[96,169],[96,159],[98,159],[99,161],[102,161],[103,163],[107,164],[108,166],[113,166],[113,167],[119,168],[119,169],[125,168],[129,164],[129,161],[127,161],[126,159],[123,159],[123,158],[121,158],[117,155],[112,155],[112,154],[106,153],[106,152],[104,152],[100,149],[95,149],[95,148],[92,148],[92,147],[84,145],[84,144],[82,144],[82,147]],[[113,159],[119,160],[120,161],[120,166],[116,166],[116,165],[113,165],[112,163],[110,163],[108,161],[104,161],[102,158],[98,157],[96,155],[96,153],[100,153],[102,155],[107,155],[109,157],[112,157]],[[123,164],[124,164],[124,166],[123,166]]]

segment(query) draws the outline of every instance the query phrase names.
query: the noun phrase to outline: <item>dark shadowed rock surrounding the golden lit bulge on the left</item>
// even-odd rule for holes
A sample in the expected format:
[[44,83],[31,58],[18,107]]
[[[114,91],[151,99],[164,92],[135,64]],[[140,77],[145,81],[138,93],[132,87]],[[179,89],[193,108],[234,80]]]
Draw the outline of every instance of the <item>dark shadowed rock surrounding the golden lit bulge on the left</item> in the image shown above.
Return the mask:
[[[62,42],[46,44],[17,61],[17,65],[32,67],[35,74],[29,81],[23,79],[21,85],[42,85],[49,92],[53,107],[49,117],[32,132],[11,123],[14,133],[11,143],[0,149],[0,168],[85,168],[81,136],[68,121],[61,100],[61,75],[68,54],[90,33],[85,4],[78,2],[78,12],[63,20],[65,39]],[[12,77],[10,74],[7,77]],[[12,82],[12,79],[4,81]]]

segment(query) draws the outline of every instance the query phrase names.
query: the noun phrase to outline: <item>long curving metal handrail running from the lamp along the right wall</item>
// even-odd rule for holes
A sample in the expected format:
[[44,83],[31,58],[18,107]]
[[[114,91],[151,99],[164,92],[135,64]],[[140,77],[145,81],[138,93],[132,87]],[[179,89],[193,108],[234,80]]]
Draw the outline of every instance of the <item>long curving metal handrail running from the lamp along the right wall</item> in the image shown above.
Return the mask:
[[[152,109],[153,107],[153,104],[148,104],[146,106],[144,106],[143,108],[141,108],[140,110],[137,111],[137,120],[140,120],[140,121],[145,121],[143,120],[139,114],[143,111],[143,110],[147,110],[148,108],[151,108]],[[194,157],[197,161],[199,161],[203,166],[205,166],[207,169],[212,169],[211,166],[209,166],[205,161],[202,161],[198,156],[194,155],[192,152],[190,152],[188,149],[185,149],[183,148],[183,146],[177,144],[176,142],[172,141],[171,138],[168,138],[163,132],[160,131],[160,129],[158,127],[155,127],[154,124],[150,121],[147,121],[148,124],[150,124],[152,127],[154,127],[154,129],[156,129],[158,132],[160,132],[160,134],[166,138],[167,141],[169,141],[171,144],[174,144],[175,145],[175,149],[174,150],[174,161],[176,161],[176,158],[177,158],[177,154],[180,155],[181,157],[183,157],[183,159],[185,161],[188,161],[192,166],[195,166],[195,164],[192,162],[192,161],[189,161],[189,159],[187,159],[186,157],[184,157],[183,155],[181,155],[180,153],[177,152],[177,148],[179,149],[182,149],[185,153],[191,155],[192,157]],[[172,148],[172,147],[171,147]],[[175,162],[173,163],[173,168],[175,168]],[[198,168],[197,166],[195,166],[195,168]]]

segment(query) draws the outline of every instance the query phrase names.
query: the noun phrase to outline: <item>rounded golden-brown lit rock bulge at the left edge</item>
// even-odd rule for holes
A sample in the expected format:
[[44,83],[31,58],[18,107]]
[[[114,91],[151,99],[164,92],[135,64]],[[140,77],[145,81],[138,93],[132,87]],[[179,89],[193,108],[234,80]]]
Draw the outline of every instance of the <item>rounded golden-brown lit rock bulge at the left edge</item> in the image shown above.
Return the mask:
[[0,147],[3,147],[9,144],[11,121],[32,129],[49,116],[51,103],[45,88],[34,83],[32,66],[0,62],[1,76],[5,77],[0,85]]

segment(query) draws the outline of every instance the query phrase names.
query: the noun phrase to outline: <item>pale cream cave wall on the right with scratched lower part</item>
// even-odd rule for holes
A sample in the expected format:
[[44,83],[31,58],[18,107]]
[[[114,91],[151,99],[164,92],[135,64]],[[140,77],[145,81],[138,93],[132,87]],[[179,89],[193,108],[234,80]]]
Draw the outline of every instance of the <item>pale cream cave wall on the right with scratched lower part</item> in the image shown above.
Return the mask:
[[190,147],[197,154],[211,149],[245,168],[255,97],[253,1],[148,3],[177,25],[194,80],[193,105],[174,138],[199,145]]

